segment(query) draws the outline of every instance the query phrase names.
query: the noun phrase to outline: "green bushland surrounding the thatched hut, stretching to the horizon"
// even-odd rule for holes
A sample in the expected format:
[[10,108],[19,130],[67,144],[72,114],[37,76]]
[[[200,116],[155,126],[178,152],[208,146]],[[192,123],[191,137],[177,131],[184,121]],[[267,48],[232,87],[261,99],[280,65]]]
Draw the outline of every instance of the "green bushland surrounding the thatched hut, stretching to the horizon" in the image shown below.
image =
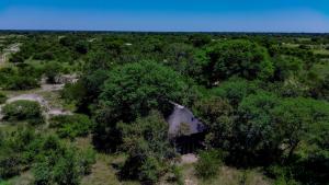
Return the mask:
[[[1,32],[0,55],[1,185],[329,184],[329,35]],[[171,102],[205,125],[195,163]]]

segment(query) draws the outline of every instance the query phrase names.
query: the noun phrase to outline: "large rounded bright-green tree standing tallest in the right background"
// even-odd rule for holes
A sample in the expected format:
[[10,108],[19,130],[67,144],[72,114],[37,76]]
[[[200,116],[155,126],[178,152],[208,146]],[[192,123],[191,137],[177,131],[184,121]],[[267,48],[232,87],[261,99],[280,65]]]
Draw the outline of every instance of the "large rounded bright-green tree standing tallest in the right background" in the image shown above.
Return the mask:
[[220,42],[207,48],[206,58],[204,74],[208,85],[234,76],[266,80],[274,72],[266,49],[250,41]]

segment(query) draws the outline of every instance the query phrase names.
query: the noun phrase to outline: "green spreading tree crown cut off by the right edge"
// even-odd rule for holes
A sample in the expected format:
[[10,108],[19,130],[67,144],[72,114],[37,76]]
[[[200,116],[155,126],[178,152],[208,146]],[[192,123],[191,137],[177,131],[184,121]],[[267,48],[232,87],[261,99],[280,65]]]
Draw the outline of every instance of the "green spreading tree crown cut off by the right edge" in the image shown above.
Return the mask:
[[[329,104],[326,102],[302,97],[286,99],[273,109],[272,114],[276,124],[285,128],[283,131],[285,131],[284,135],[288,139],[284,144],[287,146],[288,160],[291,160],[300,141],[313,143],[309,140],[310,138],[326,135],[329,130],[329,125],[326,124],[329,122]],[[321,128],[321,131],[319,128]]]

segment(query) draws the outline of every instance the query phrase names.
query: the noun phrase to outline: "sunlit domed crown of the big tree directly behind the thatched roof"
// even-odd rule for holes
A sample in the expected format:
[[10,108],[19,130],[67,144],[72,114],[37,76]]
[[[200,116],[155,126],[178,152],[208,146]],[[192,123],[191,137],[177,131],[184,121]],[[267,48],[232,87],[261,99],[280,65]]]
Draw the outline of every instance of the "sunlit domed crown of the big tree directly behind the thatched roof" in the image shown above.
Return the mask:
[[[132,122],[150,109],[168,111],[168,101],[189,103],[191,86],[172,69],[152,61],[128,63],[110,72],[101,94],[102,106]],[[120,101],[118,101],[120,100]]]

